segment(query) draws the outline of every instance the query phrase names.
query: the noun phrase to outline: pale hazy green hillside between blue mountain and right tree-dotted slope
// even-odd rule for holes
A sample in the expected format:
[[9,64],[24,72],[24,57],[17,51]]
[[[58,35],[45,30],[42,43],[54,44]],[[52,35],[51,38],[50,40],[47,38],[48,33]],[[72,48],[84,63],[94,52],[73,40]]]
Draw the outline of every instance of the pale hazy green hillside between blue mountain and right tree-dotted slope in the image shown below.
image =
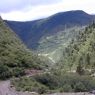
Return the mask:
[[63,50],[70,44],[72,38],[76,38],[79,30],[84,30],[85,27],[66,28],[64,31],[59,31],[54,35],[44,36],[39,41],[39,46],[36,51],[43,56],[47,56],[55,63],[60,60],[63,55]]

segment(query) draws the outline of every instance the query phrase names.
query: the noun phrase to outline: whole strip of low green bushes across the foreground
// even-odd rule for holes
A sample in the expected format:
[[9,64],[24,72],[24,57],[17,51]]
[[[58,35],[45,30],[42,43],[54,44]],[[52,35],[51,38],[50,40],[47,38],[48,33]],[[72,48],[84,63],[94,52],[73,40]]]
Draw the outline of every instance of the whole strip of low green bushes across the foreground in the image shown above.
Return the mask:
[[95,89],[95,78],[74,73],[41,74],[12,80],[17,90],[36,91],[40,94],[52,92],[85,92]]

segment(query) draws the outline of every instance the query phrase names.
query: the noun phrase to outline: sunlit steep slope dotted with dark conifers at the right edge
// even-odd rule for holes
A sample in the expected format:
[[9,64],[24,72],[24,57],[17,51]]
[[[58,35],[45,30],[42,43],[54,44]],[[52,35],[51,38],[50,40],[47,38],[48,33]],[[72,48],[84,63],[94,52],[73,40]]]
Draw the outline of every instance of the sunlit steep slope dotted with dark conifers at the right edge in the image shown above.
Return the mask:
[[[63,68],[95,72],[95,23],[80,31],[76,38],[63,50]],[[83,73],[83,72],[80,72]]]

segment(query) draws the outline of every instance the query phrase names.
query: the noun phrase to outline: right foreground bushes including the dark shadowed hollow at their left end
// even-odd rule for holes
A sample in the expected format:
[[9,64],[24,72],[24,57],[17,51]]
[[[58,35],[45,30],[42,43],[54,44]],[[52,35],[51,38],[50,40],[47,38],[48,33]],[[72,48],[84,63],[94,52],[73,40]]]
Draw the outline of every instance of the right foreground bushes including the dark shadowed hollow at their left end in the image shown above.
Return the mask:
[[35,77],[36,81],[49,87],[50,90],[57,90],[64,92],[84,92],[95,89],[95,79],[91,76],[80,76],[78,74],[42,74]]

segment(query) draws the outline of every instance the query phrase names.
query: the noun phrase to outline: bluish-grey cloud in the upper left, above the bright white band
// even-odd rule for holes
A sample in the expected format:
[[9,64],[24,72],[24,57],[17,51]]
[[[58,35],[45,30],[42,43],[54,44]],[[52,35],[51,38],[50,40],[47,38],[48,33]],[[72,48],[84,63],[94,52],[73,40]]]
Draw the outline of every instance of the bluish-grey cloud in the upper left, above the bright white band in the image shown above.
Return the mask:
[[0,13],[18,11],[39,5],[47,5],[60,2],[62,0],[2,0],[0,1]]

